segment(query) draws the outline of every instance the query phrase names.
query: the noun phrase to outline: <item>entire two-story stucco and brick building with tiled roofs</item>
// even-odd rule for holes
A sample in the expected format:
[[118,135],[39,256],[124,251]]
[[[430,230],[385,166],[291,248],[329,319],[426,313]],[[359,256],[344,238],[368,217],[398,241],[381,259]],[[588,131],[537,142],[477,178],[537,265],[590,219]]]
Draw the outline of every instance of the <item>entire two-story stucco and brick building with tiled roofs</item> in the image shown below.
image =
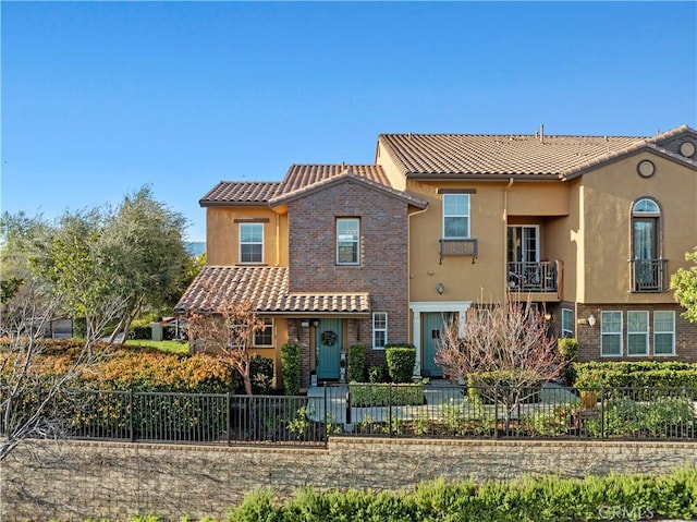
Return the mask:
[[[339,349],[388,341],[433,362],[444,323],[529,299],[582,360],[697,361],[697,325],[669,278],[697,245],[697,132],[653,137],[384,134],[371,166],[293,166],[282,182],[221,182],[207,208],[201,289],[252,299],[277,363],[296,341],[303,383]],[[335,336],[327,332],[334,332]],[[332,341],[327,345],[325,341]],[[268,347],[268,348],[267,348]],[[278,364],[277,364],[278,366]]]

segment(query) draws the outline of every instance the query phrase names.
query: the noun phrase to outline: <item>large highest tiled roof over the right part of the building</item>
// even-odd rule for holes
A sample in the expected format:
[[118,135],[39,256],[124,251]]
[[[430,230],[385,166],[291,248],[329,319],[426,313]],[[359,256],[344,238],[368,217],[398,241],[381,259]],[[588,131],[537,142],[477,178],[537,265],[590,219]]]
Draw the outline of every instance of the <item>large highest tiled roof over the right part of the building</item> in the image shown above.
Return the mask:
[[[509,134],[381,134],[378,145],[409,179],[561,179],[590,166],[694,132],[687,125],[653,137]],[[661,149],[662,150],[662,149]],[[665,154],[671,154],[665,150]],[[688,159],[680,157],[681,160]]]

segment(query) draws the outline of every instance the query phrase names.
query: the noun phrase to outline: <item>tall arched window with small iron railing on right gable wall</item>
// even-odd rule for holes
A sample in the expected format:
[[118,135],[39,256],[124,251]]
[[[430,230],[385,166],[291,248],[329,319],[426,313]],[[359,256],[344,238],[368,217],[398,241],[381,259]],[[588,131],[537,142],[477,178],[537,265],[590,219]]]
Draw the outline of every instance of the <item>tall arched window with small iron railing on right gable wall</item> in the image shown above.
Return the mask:
[[632,290],[660,292],[664,287],[661,253],[661,208],[644,197],[632,206]]

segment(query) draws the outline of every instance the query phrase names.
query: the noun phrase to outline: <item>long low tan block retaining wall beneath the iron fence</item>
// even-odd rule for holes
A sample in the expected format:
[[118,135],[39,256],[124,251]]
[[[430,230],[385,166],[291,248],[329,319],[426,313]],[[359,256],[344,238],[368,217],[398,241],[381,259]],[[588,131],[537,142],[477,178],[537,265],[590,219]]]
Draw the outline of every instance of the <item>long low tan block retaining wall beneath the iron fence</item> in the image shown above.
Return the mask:
[[697,465],[690,442],[406,440],[334,437],[327,450],[42,441],[2,463],[0,520],[224,520],[257,487],[395,489],[443,476],[659,474]]

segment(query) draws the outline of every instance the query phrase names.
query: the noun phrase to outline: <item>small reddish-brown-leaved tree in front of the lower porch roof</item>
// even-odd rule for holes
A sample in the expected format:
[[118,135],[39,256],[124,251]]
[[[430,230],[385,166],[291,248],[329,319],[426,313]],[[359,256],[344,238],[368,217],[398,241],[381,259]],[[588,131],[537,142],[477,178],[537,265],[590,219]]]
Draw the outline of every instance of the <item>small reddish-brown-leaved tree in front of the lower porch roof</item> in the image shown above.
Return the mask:
[[262,331],[252,302],[225,300],[212,311],[189,311],[189,342],[206,352],[212,352],[234,367],[244,381],[244,390],[252,394],[252,352],[255,333]]

